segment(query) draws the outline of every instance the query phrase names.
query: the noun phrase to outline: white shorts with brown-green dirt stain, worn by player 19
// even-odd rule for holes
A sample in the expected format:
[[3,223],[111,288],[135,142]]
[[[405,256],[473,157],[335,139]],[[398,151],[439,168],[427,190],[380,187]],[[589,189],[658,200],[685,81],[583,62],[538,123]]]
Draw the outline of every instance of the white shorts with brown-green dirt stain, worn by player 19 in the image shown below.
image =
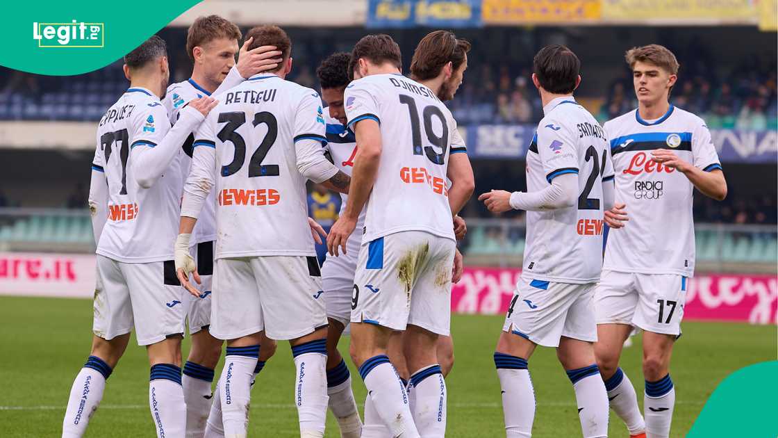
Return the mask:
[[454,240],[425,231],[400,231],[359,251],[351,322],[393,330],[406,325],[448,336]]

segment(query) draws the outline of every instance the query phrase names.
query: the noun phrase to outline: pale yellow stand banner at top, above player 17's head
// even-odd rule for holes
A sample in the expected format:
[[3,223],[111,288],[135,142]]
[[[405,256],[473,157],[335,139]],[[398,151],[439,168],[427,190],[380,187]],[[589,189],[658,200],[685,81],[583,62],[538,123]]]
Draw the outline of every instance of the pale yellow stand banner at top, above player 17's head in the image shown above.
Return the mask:
[[753,0],[602,0],[606,22],[755,23],[755,16]]

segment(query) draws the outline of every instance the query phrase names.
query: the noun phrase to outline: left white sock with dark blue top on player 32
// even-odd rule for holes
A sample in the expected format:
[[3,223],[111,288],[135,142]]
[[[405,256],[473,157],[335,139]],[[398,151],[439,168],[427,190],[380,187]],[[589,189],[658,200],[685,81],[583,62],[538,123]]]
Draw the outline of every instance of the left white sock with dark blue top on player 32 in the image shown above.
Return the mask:
[[251,380],[258,356],[259,345],[227,347],[224,369],[217,386],[227,438],[243,438],[247,434]]

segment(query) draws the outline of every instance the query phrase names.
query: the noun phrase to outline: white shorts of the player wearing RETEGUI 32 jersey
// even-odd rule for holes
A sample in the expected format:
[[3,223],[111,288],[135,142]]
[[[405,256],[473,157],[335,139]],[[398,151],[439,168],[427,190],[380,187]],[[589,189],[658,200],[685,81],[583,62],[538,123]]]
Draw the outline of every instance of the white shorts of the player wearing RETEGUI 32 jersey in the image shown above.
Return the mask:
[[267,337],[281,341],[327,326],[315,256],[218,259],[215,267],[213,337],[236,339],[265,330]]

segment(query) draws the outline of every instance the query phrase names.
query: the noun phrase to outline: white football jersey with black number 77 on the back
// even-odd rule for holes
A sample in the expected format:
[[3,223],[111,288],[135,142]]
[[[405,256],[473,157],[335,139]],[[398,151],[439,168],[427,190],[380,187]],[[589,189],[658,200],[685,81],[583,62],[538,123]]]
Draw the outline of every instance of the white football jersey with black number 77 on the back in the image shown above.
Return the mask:
[[100,119],[93,168],[108,181],[108,221],[97,253],[124,263],[173,259],[183,175],[180,156],[149,189],[135,181],[133,150],[154,147],[170,130],[165,107],[151,91],[133,87]]

